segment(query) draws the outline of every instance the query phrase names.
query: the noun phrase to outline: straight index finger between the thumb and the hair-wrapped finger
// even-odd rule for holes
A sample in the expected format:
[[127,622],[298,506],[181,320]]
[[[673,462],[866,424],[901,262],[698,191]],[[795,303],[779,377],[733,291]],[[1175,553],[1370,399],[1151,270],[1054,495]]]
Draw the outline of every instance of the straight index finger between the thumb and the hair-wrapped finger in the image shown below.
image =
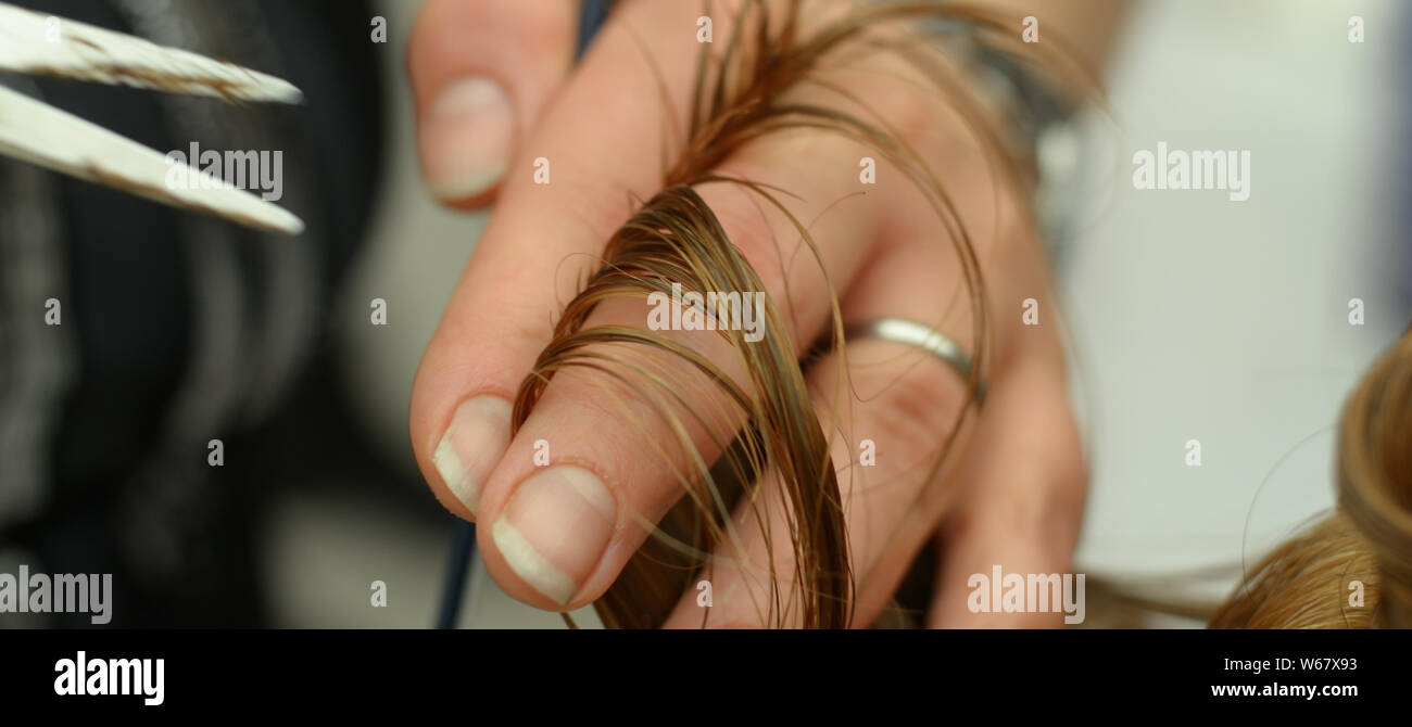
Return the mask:
[[[438,500],[473,518],[504,455],[510,401],[551,323],[594,270],[630,198],[661,186],[662,97],[681,117],[695,71],[696,11],[637,3],[609,20],[575,79],[521,145],[501,200],[412,385],[411,440]],[[628,27],[679,27],[642,35]],[[655,73],[654,73],[655,68]],[[587,123],[592,110],[592,123]]]

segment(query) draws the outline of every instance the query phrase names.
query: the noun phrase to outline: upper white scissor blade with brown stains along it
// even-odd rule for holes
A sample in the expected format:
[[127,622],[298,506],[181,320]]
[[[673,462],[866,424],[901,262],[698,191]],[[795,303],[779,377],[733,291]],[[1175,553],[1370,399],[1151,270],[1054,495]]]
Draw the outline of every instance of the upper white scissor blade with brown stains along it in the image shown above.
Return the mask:
[[0,3],[0,71],[217,96],[299,103],[292,83],[236,64]]

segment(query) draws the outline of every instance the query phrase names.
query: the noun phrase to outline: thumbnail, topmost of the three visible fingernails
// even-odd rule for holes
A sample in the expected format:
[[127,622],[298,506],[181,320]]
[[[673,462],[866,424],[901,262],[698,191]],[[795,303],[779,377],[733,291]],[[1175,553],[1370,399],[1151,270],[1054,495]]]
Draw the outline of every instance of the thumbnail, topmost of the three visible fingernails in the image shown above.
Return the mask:
[[439,199],[494,186],[510,164],[514,110],[498,83],[465,78],[443,88],[421,120],[422,171]]

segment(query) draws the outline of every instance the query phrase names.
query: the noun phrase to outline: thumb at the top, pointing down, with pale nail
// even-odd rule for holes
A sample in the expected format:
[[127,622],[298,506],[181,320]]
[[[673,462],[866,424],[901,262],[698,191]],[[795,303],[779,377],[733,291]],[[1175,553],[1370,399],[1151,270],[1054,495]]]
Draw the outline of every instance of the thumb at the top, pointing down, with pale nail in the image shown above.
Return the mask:
[[408,42],[422,176],[436,199],[491,200],[573,61],[573,0],[429,0]]

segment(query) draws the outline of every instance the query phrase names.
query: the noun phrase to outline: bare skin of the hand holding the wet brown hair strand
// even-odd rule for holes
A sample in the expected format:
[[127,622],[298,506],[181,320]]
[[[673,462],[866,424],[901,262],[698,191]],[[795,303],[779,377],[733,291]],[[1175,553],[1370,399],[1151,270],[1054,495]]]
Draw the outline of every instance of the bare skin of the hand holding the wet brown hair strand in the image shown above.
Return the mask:
[[[561,611],[592,603],[613,583],[648,536],[641,518],[665,512],[681,487],[666,462],[644,456],[644,432],[585,380],[556,377],[514,440],[510,402],[549,342],[555,315],[630,216],[630,195],[647,199],[661,188],[664,99],[652,65],[683,116],[700,14],[695,3],[621,1],[575,68],[578,11],[568,0],[431,0],[408,51],[431,192],[465,209],[494,202],[422,357],[411,442],[438,500],[481,525],[479,546],[497,583],[515,599]],[[722,40],[730,8],[716,16]],[[1087,473],[1065,390],[1048,263],[1018,200],[994,184],[956,116],[940,99],[895,82],[908,71],[888,64],[837,71],[832,80],[858,89],[890,119],[955,200],[980,260],[993,359],[986,405],[962,419],[955,449],[932,479],[925,477],[931,456],[964,402],[960,375],[925,352],[875,339],[849,343],[853,392],[844,388],[842,401],[833,398],[836,361],[810,370],[825,432],[837,435],[834,464],[857,582],[854,624],[881,613],[916,552],[939,538],[928,625],[1060,625],[1060,613],[967,608],[967,579],[988,576],[994,565],[1005,573],[1072,570]],[[836,96],[816,100],[839,104]],[[810,224],[827,281],[812,256],[791,256],[788,241],[798,234],[784,215],[762,210],[731,185],[699,192],[777,305],[794,312],[785,316],[792,340],[809,342],[827,323],[832,282],[844,320],[909,318],[969,349],[974,330],[959,292],[962,270],[935,212],[881,157],[877,184],[863,189],[863,157],[878,154],[809,130],[747,145],[722,165],[798,196],[784,200]],[[541,161],[549,162],[549,184],[535,182]],[[1039,325],[1022,323],[1029,298],[1038,301]],[[655,425],[664,428],[658,439],[669,439],[666,425]],[[858,467],[863,438],[877,442],[874,467]],[[551,443],[548,467],[534,463],[541,439]],[[758,531],[748,527],[753,517],[738,514],[741,532]],[[717,553],[706,625],[761,623],[770,551],[758,535],[734,548]],[[788,553],[772,558],[777,569],[791,567]],[[695,596],[683,596],[668,625],[702,625]]]

